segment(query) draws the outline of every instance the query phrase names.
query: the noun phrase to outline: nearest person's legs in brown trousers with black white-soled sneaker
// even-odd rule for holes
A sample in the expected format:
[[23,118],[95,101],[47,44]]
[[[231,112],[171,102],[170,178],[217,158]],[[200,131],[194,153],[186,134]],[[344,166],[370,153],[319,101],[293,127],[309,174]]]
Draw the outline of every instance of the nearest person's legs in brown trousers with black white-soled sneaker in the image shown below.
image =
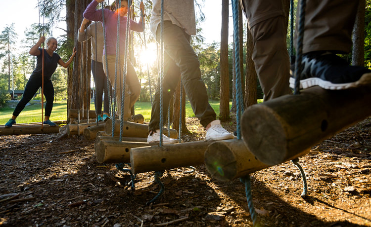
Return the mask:
[[[289,94],[289,87],[294,88],[295,79],[289,76],[286,24],[281,1],[240,2],[253,38],[252,60],[264,92],[264,101]],[[319,85],[324,89],[347,89],[370,79],[370,70],[349,66],[336,55],[351,51],[358,4],[358,0],[307,0],[301,88]]]

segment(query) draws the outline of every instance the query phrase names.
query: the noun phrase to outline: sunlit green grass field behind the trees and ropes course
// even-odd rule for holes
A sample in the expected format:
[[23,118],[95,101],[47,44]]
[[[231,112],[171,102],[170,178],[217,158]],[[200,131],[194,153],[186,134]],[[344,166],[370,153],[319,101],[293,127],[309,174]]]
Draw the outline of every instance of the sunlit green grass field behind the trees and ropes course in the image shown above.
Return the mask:
[[[258,100],[262,102],[262,100]],[[41,101],[31,100],[30,105],[19,114],[16,121],[17,123],[27,122],[40,122],[41,121]],[[0,125],[5,124],[11,117],[16,103],[11,103],[7,107],[0,108]],[[210,100],[211,107],[219,114],[219,100]],[[230,106],[232,102],[230,102]],[[91,103],[91,110],[94,110],[94,103]],[[151,103],[150,102],[137,102],[135,105],[135,113],[142,114],[146,122],[149,121],[151,116]],[[189,101],[185,105],[185,114],[187,117],[193,117],[193,111],[190,107]],[[53,110],[51,112],[50,120],[66,120],[67,119],[67,101],[55,101]]]

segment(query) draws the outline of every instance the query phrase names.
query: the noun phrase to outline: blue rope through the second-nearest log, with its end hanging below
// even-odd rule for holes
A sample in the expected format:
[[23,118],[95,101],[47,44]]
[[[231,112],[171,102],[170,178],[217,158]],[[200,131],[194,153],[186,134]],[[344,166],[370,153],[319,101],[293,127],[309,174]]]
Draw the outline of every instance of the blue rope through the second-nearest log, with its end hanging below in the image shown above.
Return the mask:
[[[241,69],[239,64],[239,34],[238,34],[238,1],[232,0],[232,11],[233,11],[233,44],[234,44],[234,65],[235,65],[235,86],[236,86],[236,123],[237,123],[237,138],[241,139],[241,127],[240,118],[243,111],[243,99],[242,99],[242,80],[241,80]],[[247,204],[249,207],[250,215],[254,226],[257,226],[257,215],[254,209],[254,203],[252,201],[251,183],[250,176],[247,175],[244,178],[240,178],[241,182],[245,184]]]

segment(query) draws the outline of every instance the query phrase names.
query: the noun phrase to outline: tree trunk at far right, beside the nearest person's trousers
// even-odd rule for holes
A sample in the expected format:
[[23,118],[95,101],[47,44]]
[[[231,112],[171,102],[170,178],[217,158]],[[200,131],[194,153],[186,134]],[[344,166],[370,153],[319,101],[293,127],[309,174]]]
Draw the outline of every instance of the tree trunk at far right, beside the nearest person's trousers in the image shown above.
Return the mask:
[[365,65],[365,7],[366,1],[361,0],[358,5],[357,17],[353,28],[353,66]]

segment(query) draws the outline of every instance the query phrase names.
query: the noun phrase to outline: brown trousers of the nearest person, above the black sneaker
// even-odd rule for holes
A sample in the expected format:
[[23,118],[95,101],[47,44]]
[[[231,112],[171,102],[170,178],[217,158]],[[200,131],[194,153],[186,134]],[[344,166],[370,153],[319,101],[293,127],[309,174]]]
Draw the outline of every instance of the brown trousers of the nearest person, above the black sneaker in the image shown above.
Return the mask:
[[[281,1],[240,1],[253,38],[252,60],[264,101],[289,94],[289,58]],[[303,53],[320,50],[349,52],[358,4],[358,0],[307,0]]]

